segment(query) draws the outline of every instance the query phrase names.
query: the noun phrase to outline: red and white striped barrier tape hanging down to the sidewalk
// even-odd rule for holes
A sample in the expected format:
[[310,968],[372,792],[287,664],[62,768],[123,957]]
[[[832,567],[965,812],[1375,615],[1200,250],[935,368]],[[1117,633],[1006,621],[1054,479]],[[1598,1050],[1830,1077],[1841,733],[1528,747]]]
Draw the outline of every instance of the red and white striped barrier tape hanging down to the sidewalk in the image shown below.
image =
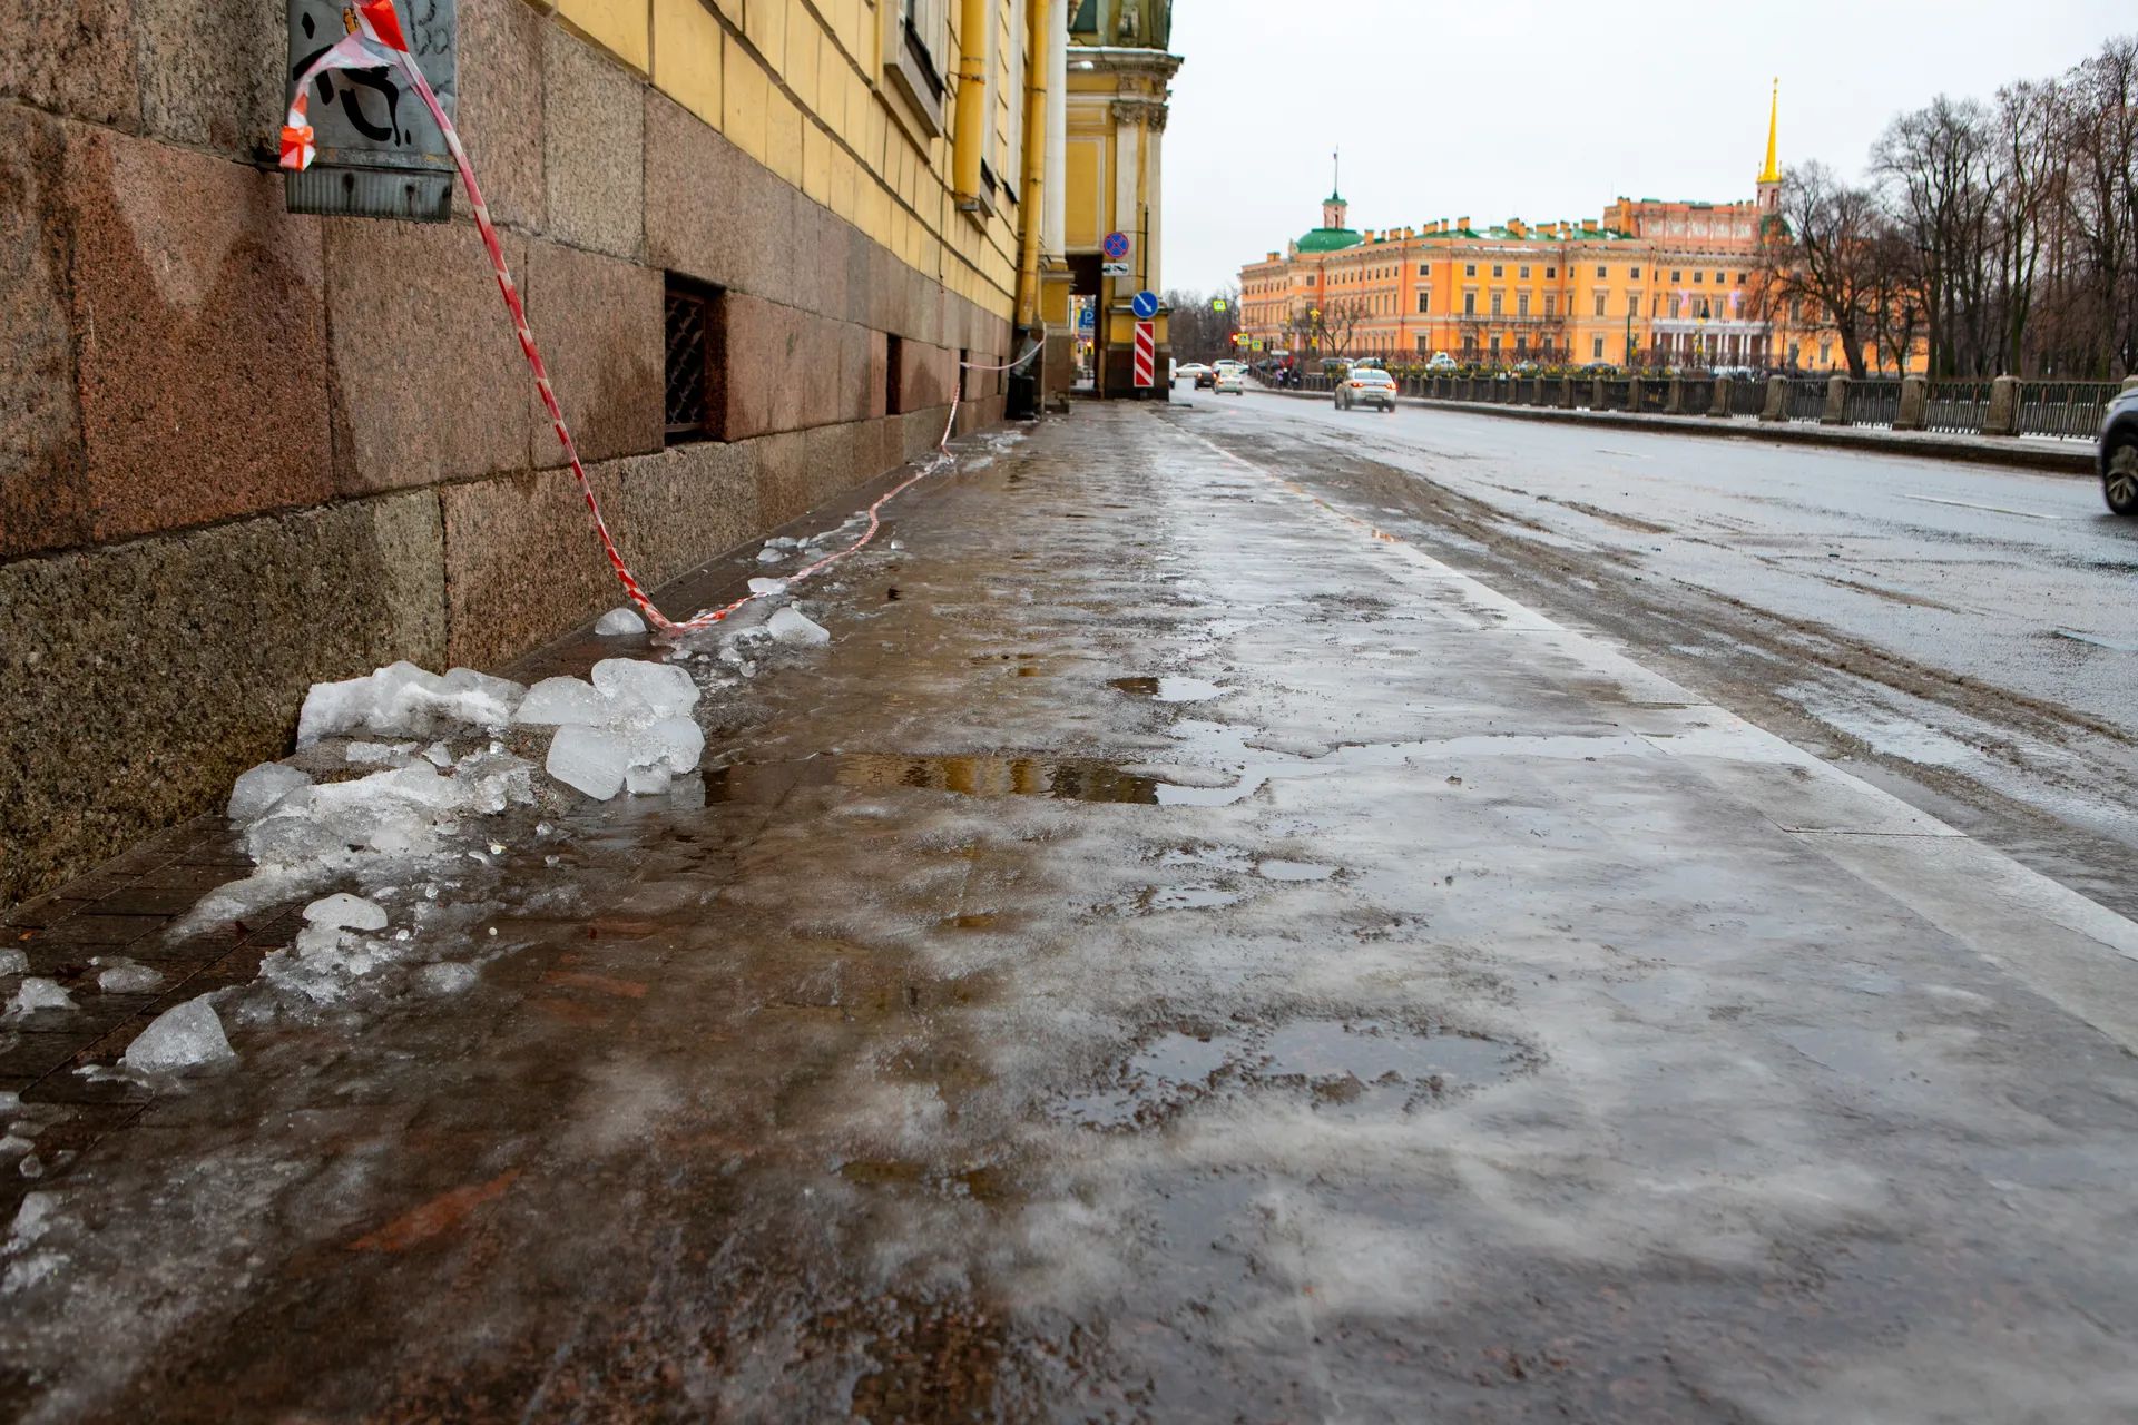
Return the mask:
[[[534,374],[534,389],[541,393],[543,410],[549,412],[549,427],[556,432],[556,440],[564,449],[564,459],[571,464],[571,476],[579,483],[579,494],[586,498],[586,513],[594,519],[594,534],[601,538],[601,549],[609,555],[609,568],[616,570],[616,579],[624,585],[624,594],[646,615],[648,624],[669,637],[710,628],[733,615],[744,605],[757,598],[768,598],[768,594],[744,594],[731,605],[703,609],[682,622],[669,620],[654,607],[654,600],[639,585],[637,575],[631,573],[622,551],[616,547],[616,536],[609,534],[609,523],[601,517],[601,500],[594,496],[594,483],[588,479],[586,466],[579,464],[579,447],[571,438],[571,427],[564,423],[564,410],[558,406],[556,391],[549,387],[549,372],[543,365],[541,350],[534,346],[534,331],[528,327],[526,308],[520,301],[520,288],[513,286],[513,273],[505,265],[505,248],[498,244],[498,229],[490,222],[490,205],[483,203],[483,190],[475,182],[475,167],[468,162],[468,152],[460,145],[460,130],[453,128],[453,120],[447,118],[445,107],[438,103],[438,94],[430,88],[430,79],[423,77],[415,56],[408,53],[408,41],[402,34],[393,0],[363,0],[351,13],[355,15],[357,28],[351,30],[340,43],[325,49],[301,75],[297,75],[295,98],[291,100],[289,115],[282,122],[280,167],[293,171],[312,167],[316,147],[312,143],[312,126],[306,124],[306,109],[310,103],[308,90],[319,75],[329,68],[400,68],[402,75],[406,75],[408,85],[423,98],[423,107],[430,109],[430,118],[438,124],[438,132],[445,135],[445,147],[453,156],[460,182],[468,190],[468,207],[475,212],[475,226],[483,235],[483,250],[490,252],[490,269],[498,280],[498,293],[505,297],[505,310],[511,314],[513,331],[520,335],[520,350],[526,355],[528,370]],[[1039,342],[1033,342],[1033,346],[1016,361],[1005,361],[1001,365],[960,361],[958,367],[964,372],[1011,372],[1031,361],[1037,353]],[[791,575],[783,581],[783,590],[789,590],[832,564],[838,564],[849,553],[859,551],[877,536],[877,530],[883,528],[879,513],[885,504],[930,474],[947,470],[956,464],[956,457],[949,453],[949,436],[958,425],[958,406],[962,402],[964,378],[960,378],[958,389],[951,391],[949,419],[943,423],[943,438],[936,440],[934,455],[930,455],[928,461],[924,461],[911,476],[877,496],[877,500],[868,506],[868,530],[864,530],[857,541]]]

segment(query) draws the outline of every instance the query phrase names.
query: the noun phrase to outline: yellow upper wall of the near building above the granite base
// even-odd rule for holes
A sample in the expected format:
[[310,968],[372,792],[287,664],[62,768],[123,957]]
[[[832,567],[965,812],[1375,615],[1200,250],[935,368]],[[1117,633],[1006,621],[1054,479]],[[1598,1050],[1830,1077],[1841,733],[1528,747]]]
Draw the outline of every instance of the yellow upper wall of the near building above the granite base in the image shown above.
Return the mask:
[[896,0],[558,0],[558,17],[735,147],[990,314],[1016,312],[1031,0],[988,0],[994,212],[960,212],[951,143],[962,6],[941,4],[941,132],[883,68]]

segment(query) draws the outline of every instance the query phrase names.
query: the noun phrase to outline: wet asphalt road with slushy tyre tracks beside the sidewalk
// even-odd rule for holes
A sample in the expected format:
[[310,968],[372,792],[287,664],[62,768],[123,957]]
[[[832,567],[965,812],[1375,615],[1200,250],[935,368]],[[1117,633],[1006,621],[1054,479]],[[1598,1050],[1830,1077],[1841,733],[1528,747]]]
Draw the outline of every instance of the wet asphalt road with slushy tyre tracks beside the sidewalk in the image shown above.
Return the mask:
[[1193,408],[1204,434],[2138,914],[2138,521],[2097,481],[1259,391]]

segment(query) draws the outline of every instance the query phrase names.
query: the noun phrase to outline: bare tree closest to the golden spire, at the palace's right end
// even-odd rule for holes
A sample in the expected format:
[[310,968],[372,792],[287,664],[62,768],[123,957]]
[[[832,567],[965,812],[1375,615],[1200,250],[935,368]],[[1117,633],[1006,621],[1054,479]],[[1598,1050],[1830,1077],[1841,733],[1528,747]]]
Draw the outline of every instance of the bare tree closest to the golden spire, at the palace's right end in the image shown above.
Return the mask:
[[1781,233],[1762,250],[1768,299],[1809,303],[1841,340],[1849,376],[1864,374],[1875,248],[1884,226],[1869,188],[1852,188],[1826,165],[1807,162],[1783,179]]

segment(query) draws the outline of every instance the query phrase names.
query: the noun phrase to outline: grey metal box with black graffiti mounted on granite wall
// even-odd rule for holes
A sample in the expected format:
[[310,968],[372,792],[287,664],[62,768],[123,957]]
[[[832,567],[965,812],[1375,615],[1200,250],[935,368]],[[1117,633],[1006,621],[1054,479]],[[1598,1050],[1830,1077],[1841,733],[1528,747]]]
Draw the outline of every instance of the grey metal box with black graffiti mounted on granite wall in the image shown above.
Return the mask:
[[[455,0],[398,0],[408,53],[438,105],[460,118],[460,15]],[[353,28],[334,0],[289,0],[289,73],[295,81],[319,51]],[[327,218],[453,216],[453,156],[445,135],[406,79],[391,68],[327,71],[312,81],[310,124],[319,158],[304,173],[282,173],[282,203],[293,214]]]

